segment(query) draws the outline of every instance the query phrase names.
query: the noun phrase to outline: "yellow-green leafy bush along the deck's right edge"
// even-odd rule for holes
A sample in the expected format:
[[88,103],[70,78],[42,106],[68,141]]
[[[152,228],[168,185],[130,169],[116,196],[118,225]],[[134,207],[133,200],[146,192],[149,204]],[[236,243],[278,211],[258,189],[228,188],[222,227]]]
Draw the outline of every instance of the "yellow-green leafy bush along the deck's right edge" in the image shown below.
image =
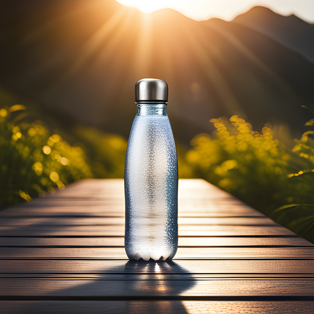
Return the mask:
[[221,187],[314,242],[314,141],[308,136],[314,132],[304,133],[289,151],[273,139],[270,128],[264,127],[263,134],[254,132],[239,116],[211,122],[217,131],[197,135],[186,154],[192,176]]

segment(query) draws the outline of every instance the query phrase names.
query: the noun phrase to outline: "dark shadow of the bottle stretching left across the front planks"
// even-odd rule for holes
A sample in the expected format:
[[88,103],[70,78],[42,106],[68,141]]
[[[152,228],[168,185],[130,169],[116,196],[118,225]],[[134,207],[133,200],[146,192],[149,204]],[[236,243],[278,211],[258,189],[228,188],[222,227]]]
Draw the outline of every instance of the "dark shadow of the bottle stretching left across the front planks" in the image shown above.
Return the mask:
[[[59,287],[41,293],[41,300],[22,302],[10,313],[178,313],[187,311],[178,298],[196,279],[173,261],[129,260],[120,265],[80,272],[77,279],[59,277]],[[56,279],[52,279],[52,281]],[[87,282],[86,282],[87,281]],[[45,290],[45,289],[44,289]],[[47,299],[45,300],[45,296]],[[73,300],[73,297],[75,300]],[[52,299],[51,299],[52,298]],[[12,305],[11,305],[12,306]]]

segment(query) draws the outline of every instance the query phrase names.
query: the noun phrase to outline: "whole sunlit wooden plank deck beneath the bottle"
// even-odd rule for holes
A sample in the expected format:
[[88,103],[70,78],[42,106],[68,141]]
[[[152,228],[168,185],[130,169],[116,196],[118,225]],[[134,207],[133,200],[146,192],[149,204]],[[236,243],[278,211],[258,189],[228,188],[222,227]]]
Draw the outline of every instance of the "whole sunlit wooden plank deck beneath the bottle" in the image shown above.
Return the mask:
[[128,261],[123,180],[1,217],[1,313],[313,313],[314,245],[203,180],[179,182],[173,262]]

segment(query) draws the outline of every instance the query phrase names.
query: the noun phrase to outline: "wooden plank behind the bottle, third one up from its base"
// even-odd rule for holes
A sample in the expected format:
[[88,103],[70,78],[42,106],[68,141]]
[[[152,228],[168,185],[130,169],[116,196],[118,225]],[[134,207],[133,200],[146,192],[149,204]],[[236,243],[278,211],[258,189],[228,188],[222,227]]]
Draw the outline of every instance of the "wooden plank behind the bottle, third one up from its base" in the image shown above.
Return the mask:
[[[31,225],[0,227],[0,236],[124,236],[124,225],[58,226]],[[296,236],[280,225],[179,225],[179,236]]]

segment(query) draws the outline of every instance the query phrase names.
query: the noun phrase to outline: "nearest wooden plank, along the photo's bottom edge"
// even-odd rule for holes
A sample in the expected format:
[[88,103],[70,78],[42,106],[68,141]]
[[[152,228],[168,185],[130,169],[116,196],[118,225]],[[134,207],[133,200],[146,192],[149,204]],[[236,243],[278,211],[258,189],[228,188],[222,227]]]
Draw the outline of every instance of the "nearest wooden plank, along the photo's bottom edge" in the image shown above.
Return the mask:
[[0,301],[3,314],[312,314],[314,301]]

